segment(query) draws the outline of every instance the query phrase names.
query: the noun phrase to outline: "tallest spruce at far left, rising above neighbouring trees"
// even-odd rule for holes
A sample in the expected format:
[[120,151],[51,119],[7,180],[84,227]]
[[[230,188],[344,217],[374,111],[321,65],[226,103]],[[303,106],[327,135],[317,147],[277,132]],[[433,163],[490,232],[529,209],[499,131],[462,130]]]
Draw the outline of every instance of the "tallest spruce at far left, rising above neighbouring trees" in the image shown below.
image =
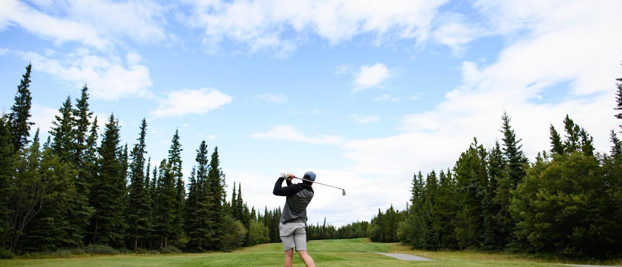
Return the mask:
[[9,125],[11,131],[11,144],[13,151],[20,151],[29,143],[30,125],[34,123],[28,121],[30,118],[30,106],[32,105],[32,96],[30,96],[30,69],[32,64],[28,63],[26,73],[22,75],[22,80],[17,85],[17,95],[15,103],[11,106],[11,115],[9,116]]

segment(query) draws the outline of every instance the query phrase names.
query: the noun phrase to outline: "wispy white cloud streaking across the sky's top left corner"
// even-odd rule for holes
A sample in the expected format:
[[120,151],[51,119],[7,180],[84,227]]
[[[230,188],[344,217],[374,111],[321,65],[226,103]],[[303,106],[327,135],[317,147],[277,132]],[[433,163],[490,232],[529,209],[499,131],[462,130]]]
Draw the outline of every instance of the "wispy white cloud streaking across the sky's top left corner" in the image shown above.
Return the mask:
[[[0,30],[18,26],[57,43],[80,42],[111,49],[119,36],[139,42],[163,40],[164,8],[152,1],[37,1],[39,9],[16,0],[0,2]],[[62,13],[64,17],[53,14]]]

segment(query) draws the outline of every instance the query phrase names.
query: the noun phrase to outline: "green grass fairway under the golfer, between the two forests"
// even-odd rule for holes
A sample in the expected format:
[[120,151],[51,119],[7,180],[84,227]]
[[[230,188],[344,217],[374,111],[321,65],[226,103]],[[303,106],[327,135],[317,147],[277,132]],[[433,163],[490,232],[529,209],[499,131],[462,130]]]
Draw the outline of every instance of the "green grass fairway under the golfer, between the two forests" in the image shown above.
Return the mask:
[[[397,243],[371,243],[366,238],[310,241],[307,248],[317,266],[556,266],[544,263],[542,262],[544,260],[533,256],[473,251],[416,251]],[[401,261],[373,252],[407,253],[437,261]],[[0,260],[0,266],[282,266],[282,264],[283,251],[280,243],[253,246],[232,253]],[[608,261],[606,264],[622,265],[622,261]],[[304,266],[297,255],[294,255],[294,266]]]

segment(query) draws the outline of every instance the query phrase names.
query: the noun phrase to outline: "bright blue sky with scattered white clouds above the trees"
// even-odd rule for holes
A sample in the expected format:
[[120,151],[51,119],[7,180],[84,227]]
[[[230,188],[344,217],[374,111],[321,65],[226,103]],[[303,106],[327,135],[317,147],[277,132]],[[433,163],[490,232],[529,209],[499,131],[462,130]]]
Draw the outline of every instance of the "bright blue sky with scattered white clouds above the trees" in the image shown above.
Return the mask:
[[[507,111],[527,156],[566,114],[608,151],[621,77],[620,1],[0,2],[0,106],[33,64],[48,131],[90,88],[100,121],[152,161],[179,128],[188,175],[202,140],[249,205],[282,205],[281,172],[315,171],[312,223],[369,220],[409,199],[414,172],[490,148]],[[100,123],[100,125],[103,123]],[[229,189],[230,192],[230,189]],[[230,193],[229,193],[230,194]]]

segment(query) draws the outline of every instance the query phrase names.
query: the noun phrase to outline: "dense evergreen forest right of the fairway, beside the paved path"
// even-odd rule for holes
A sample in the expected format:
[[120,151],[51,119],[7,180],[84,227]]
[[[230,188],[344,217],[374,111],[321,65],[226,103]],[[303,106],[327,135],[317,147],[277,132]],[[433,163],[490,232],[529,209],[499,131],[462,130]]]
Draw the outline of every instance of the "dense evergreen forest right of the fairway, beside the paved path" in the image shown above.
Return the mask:
[[[614,116],[622,119],[617,81]],[[501,143],[486,149],[473,138],[452,169],[415,173],[407,208],[378,210],[368,236],[425,250],[622,255],[622,125],[607,153],[595,152],[568,115],[563,122],[564,136],[551,124],[550,148],[529,162],[504,113]]]

